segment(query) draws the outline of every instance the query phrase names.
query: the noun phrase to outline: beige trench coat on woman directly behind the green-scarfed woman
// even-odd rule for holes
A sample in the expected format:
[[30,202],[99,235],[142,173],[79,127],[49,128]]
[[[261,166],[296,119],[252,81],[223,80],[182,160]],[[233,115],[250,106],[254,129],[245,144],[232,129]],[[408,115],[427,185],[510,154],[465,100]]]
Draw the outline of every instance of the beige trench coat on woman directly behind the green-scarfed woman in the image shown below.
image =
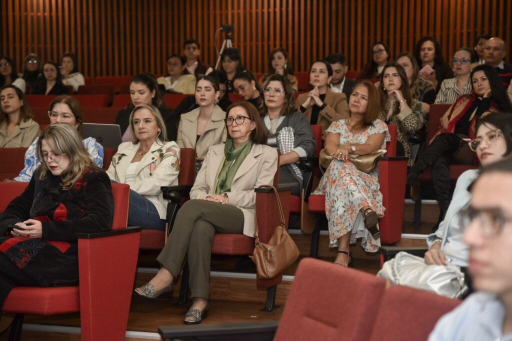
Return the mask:
[[196,108],[193,111],[181,115],[180,125],[178,127],[178,145],[180,148],[193,148],[196,150],[198,158],[206,157],[208,148],[212,145],[226,142],[227,131],[224,119],[226,113],[215,105],[214,112],[211,113],[211,118],[203,135],[197,141],[197,121],[199,118],[201,108]]

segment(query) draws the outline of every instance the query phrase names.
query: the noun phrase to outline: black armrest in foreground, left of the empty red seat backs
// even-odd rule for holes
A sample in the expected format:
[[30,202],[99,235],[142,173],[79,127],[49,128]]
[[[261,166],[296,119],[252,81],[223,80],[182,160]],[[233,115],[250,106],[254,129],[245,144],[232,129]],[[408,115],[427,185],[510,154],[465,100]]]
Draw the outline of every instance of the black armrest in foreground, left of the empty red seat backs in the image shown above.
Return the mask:
[[158,327],[163,340],[193,340],[209,337],[223,340],[241,340],[247,337],[258,340],[272,340],[279,321],[201,324],[197,326],[164,326]]

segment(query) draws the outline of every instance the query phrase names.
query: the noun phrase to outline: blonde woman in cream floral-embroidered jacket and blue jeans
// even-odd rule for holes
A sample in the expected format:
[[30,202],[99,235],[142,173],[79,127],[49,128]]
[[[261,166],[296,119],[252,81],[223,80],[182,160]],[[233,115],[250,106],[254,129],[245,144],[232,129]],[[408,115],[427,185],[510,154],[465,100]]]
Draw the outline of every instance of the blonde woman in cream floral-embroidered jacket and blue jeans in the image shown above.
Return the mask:
[[112,181],[130,185],[129,226],[164,230],[167,201],[160,187],[178,184],[180,148],[165,141],[165,123],[156,106],[136,106],[130,131],[133,141],[119,145],[106,173]]

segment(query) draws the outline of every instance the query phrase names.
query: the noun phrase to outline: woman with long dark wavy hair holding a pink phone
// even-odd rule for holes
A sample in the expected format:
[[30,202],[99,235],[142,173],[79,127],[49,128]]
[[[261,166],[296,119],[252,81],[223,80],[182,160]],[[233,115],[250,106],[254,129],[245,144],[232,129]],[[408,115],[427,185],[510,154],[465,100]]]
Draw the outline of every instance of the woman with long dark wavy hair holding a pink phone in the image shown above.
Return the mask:
[[[414,47],[414,56],[420,68],[418,77],[430,80],[434,84],[436,92],[439,92],[443,80],[453,78],[452,69],[444,62],[441,45],[436,38],[423,37],[419,39]],[[427,66],[434,72],[423,69]]]

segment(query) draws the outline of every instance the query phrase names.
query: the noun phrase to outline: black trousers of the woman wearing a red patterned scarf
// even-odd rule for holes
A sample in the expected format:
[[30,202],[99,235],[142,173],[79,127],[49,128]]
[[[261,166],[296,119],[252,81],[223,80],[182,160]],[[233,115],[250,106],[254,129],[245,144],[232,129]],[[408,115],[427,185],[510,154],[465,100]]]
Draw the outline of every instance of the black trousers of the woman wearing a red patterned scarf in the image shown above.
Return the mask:
[[438,135],[421,153],[407,176],[407,182],[411,184],[427,168],[432,167],[432,182],[442,218],[452,201],[450,165],[473,164],[474,161],[474,154],[463,138],[465,136],[453,133]]

